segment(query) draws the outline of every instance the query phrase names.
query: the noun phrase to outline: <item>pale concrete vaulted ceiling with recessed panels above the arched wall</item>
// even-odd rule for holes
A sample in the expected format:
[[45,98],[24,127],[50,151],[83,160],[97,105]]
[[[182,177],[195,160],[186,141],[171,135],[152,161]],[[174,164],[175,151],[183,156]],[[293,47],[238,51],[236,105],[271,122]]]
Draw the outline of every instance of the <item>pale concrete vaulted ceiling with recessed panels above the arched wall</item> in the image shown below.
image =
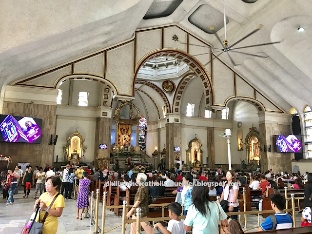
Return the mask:
[[[284,110],[312,106],[312,1],[225,3],[229,44],[259,24],[262,30],[240,46],[284,41],[240,50],[266,59],[233,53],[233,66],[226,53],[219,58]],[[178,23],[220,48],[215,33],[224,39],[222,13],[223,0],[1,0],[0,106],[3,87],[13,80],[130,39],[138,28]],[[298,32],[300,26],[306,30]]]

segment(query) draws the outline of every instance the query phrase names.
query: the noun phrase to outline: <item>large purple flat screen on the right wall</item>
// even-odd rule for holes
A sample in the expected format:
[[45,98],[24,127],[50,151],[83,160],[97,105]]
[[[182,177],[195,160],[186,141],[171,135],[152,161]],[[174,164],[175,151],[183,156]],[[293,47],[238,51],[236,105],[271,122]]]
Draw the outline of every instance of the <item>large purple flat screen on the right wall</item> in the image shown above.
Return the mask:
[[301,136],[276,135],[276,151],[281,153],[301,153]]

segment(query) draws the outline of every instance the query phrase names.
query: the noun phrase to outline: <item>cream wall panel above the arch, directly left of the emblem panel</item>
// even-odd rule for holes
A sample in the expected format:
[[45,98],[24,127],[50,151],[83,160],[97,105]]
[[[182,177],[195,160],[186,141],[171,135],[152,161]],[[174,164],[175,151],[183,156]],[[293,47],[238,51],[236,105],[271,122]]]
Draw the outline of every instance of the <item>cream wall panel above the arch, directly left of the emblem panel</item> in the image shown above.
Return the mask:
[[[151,51],[161,49],[162,29],[137,32],[136,35],[136,62],[138,63]],[[137,64],[136,64],[137,65]]]

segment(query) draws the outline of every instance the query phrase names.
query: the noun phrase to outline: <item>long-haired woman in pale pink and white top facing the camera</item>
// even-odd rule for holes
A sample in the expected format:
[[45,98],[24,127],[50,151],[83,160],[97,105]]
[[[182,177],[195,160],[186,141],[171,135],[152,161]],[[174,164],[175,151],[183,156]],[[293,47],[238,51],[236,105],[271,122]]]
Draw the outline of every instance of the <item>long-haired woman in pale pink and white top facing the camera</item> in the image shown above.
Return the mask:
[[[224,212],[238,212],[238,184],[236,183],[235,173],[233,171],[227,171],[226,182],[223,186],[223,192],[220,199],[220,204]],[[231,215],[232,219],[237,220],[237,215]]]

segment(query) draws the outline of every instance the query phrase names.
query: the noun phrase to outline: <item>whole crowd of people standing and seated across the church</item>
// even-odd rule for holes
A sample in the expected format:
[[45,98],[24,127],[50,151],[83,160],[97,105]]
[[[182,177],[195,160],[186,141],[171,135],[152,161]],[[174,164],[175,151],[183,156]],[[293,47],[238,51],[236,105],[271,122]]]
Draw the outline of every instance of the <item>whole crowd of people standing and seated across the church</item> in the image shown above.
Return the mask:
[[[127,218],[136,219],[135,210],[141,208],[141,217],[144,219],[149,213],[148,205],[151,197],[162,197],[165,194],[166,187],[172,186],[174,182],[183,182],[181,187],[178,187],[172,194],[176,195],[176,201],[168,206],[169,216],[171,220],[168,227],[165,228],[161,223],[156,223],[154,228],[159,229],[163,233],[167,231],[173,233],[186,233],[193,230],[194,233],[218,233],[218,224],[221,222],[221,228],[228,229],[227,212],[237,212],[239,210],[238,202],[238,185],[249,185],[252,190],[261,190],[261,196],[252,197],[252,201],[259,204],[261,210],[261,200],[265,197],[270,197],[272,209],[275,211],[277,227],[272,226],[272,220],[269,216],[260,225],[258,231],[271,229],[290,228],[292,227],[292,217],[284,215],[285,198],[280,195],[277,181],[279,178],[287,179],[290,176],[285,173],[274,175],[273,170],[267,171],[264,174],[261,170],[256,174],[235,173],[233,171],[221,171],[220,168],[207,174],[201,170],[192,170],[191,172],[183,173],[181,170],[164,170],[164,171],[149,171],[144,173],[141,171],[135,172],[134,168],[129,168],[129,171],[110,172],[107,168],[103,170],[91,169],[87,167],[84,171],[83,166],[79,165],[76,169],[74,165],[66,165],[63,172],[59,168],[53,166],[42,167],[36,166],[33,170],[32,166],[28,166],[23,173],[19,166],[15,170],[7,169],[1,172],[1,185],[3,198],[7,199],[6,205],[14,204],[13,195],[18,192],[18,185],[23,186],[23,198],[28,198],[30,188],[35,187],[34,198],[36,199],[34,211],[39,209],[40,219],[46,214],[44,228],[42,234],[53,234],[57,232],[58,217],[62,214],[65,207],[64,200],[72,199],[71,194],[75,181],[79,186],[77,198],[77,215],[76,219],[82,219],[82,213],[88,207],[89,185],[93,180],[114,181],[117,178],[122,178],[123,182],[119,185],[120,190],[129,189],[131,194],[136,194],[134,205],[127,213]],[[311,225],[311,207],[312,207],[312,173],[306,173],[305,178],[307,184],[302,183],[300,173],[292,174],[294,184],[293,189],[304,189],[305,206],[302,214],[302,225]],[[269,178],[274,180],[268,181]],[[159,186],[146,186],[142,182],[155,180]],[[248,181],[250,180],[250,181]],[[197,181],[208,182],[205,186]],[[132,182],[132,183],[130,183]],[[133,184],[137,182],[137,185]],[[162,183],[160,183],[162,182]],[[222,186],[215,187],[215,182],[223,182]],[[235,184],[236,182],[237,184]],[[238,184],[240,183],[240,184]],[[269,195],[269,188],[272,188],[274,193]],[[39,193],[39,198],[37,195]],[[220,195],[220,203],[214,202],[211,196]],[[180,219],[180,215],[186,215],[185,220]],[[39,219],[39,218],[38,218]],[[237,215],[231,215],[231,219],[237,219]],[[141,227],[147,234],[152,233],[151,225],[146,222],[141,222]],[[136,223],[131,224],[131,233],[136,233]]]

